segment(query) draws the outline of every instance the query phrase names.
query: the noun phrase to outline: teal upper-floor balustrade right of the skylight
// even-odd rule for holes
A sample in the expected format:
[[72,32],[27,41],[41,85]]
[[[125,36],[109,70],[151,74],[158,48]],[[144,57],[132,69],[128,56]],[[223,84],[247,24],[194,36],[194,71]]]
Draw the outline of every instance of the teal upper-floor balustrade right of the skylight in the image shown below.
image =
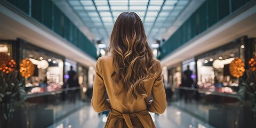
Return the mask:
[[[179,47],[198,38],[206,30],[214,30],[236,15],[254,6],[255,0],[207,0],[205,1],[166,42],[161,45],[161,57],[175,52]],[[210,30],[211,29],[211,30]]]

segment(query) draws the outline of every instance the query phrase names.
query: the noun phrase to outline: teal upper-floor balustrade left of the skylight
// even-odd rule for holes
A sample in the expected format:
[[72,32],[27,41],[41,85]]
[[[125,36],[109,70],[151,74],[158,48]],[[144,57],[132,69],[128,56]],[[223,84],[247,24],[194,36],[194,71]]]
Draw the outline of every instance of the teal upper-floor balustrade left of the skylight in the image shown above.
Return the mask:
[[51,0],[4,0],[0,4],[30,22],[41,24],[42,29],[50,29],[92,58],[97,58],[95,45]]

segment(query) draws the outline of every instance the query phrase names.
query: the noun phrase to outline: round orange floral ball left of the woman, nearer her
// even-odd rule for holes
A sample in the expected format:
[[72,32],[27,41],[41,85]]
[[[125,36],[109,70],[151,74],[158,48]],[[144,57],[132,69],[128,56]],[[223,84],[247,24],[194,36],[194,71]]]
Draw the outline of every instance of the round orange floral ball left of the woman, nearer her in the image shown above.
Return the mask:
[[28,60],[28,59],[23,59],[20,63],[20,74],[21,76],[28,78],[33,76],[35,71],[35,66],[34,64]]

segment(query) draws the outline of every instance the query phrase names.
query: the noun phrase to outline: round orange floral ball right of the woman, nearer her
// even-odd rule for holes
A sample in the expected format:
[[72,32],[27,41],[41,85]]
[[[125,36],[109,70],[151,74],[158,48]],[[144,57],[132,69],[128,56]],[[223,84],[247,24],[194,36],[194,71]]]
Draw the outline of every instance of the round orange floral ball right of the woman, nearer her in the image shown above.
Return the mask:
[[234,77],[241,77],[244,74],[245,68],[244,68],[244,62],[240,58],[236,58],[233,61],[231,61],[229,65],[229,71],[230,74]]

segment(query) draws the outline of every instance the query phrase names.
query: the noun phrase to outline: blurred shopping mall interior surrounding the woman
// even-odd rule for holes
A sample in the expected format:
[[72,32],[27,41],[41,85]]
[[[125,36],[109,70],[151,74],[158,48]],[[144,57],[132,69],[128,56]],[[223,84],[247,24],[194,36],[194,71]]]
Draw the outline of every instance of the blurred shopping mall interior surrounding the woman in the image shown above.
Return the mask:
[[0,127],[104,127],[95,65],[122,12],[139,15],[161,62],[156,127],[256,127],[255,0],[0,0]]

